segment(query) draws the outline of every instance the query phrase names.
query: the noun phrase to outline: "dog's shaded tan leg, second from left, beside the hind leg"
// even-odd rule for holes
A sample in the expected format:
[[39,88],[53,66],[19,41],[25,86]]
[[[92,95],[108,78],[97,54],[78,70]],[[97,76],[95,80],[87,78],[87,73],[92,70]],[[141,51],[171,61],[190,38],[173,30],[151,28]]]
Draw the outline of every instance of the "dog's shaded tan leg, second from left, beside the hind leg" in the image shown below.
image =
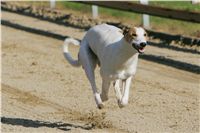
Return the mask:
[[103,81],[102,81],[102,92],[101,92],[101,99],[102,99],[103,102],[108,100],[109,88],[110,88],[110,81],[103,79]]

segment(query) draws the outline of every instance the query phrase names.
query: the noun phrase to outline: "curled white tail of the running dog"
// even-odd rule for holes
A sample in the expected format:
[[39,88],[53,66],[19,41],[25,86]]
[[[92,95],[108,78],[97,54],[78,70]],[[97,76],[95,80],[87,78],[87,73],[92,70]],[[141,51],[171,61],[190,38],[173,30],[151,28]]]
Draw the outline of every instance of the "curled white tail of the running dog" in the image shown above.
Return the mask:
[[69,53],[69,50],[68,50],[69,44],[80,45],[80,42],[75,40],[75,39],[73,39],[73,38],[66,38],[65,41],[64,41],[64,44],[63,44],[63,53],[64,53],[64,56],[65,56],[65,59],[72,66],[79,67],[79,66],[81,66],[81,63],[79,62],[79,59],[74,60],[72,58],[71,54]]

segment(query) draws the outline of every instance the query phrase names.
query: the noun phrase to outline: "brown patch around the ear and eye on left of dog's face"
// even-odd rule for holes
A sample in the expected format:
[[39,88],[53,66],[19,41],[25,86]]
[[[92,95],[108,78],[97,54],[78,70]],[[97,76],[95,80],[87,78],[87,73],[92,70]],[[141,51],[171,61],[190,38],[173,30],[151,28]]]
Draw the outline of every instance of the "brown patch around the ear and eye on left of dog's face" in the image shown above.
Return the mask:
[[131,40],[137,36],[135,28],[125,28],[123,30],[123,35],[127,42],[131,42]]

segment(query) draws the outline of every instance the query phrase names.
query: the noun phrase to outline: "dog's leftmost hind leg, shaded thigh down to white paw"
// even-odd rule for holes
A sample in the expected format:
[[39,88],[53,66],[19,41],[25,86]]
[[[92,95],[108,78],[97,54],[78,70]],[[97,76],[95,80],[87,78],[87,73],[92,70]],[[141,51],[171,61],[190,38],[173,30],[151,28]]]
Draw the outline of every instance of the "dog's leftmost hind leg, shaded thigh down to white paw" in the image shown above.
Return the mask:
[[97,104],[97,107],[99,109],[103,108],[103,103],[100,97],[100,93],[97,90],[96,82],[95,82],[95,74],[94,70],[97,65],[97,59],[91,49],[86,45],[81,46],[80,52],[79,52],[79,58],[81,61],[81,64],[85,70],[86,76],[91,84],[92,91],[94,94],[94,98]]

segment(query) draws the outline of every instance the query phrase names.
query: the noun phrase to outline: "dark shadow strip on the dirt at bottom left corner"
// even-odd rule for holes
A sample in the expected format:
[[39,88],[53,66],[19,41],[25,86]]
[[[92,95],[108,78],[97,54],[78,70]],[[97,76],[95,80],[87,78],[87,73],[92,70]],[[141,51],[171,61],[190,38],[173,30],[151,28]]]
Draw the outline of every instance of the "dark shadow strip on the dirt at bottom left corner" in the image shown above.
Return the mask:
[[81,128],[84,130],[91,130],[93,128],[93,125],[80,126],[62,122],[52,123],[47,121],[30,120],[23,118],[7,118],[7,117],[1,117],[1,123],[14,126],[32,127],[32,128],[39,128],[39,127],[57,128],[63,131],[70,131],[72,128]]

